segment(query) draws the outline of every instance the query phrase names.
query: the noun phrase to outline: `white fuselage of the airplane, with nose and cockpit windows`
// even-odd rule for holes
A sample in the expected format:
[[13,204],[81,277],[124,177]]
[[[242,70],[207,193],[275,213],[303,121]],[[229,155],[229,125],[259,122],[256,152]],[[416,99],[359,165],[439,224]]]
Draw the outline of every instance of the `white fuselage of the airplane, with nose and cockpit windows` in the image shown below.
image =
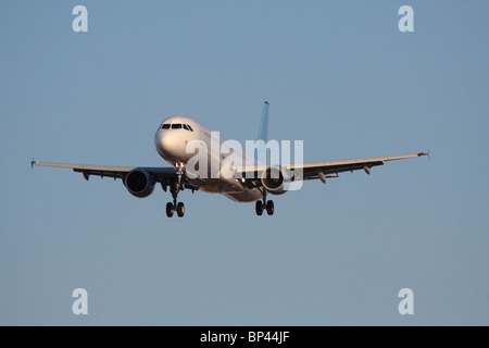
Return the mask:
[[[205,192],[223,194],[238,202],[252,202],[262,198],[262,192],[258,188],[247,188],[241,179],[221,175],[212,175],[211,169],[221,167],[227,157],[225,139],[222,137],[211,138],[212,133],[197,121],[187,116],[172,116],[163,121],[154,135],[154,145],[158,153],[172,165],[178,163],[187,164],[195,156],[193,151],[187,153],[187,145],[192,141],[202,141],[206,149],[218,146],[218,151],[208,151],[208,175],[204,177],[188,175],[188,182]],[[224,144],[224,145],[223,145]],[[243,161],[250,161],[244,153],[240,153]],[[254,159],[251,160],[254,162]],[[243,162],[247,163],[247,162]],[[195,169],[187,167],[187,172]],[[214,178],[215,176],[215,178]],[[192,178],[193,177],[193,178]]]

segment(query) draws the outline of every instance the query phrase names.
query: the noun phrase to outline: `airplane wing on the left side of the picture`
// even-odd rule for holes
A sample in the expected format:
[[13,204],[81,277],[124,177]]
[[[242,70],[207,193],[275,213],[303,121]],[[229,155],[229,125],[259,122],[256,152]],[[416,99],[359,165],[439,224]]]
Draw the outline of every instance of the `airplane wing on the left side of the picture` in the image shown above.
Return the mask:
[[[74,172],[82,173],[85,179],[88,181],[90,175],[96,175],[100,177],[113,177],[114,179],[121,178],[124,181],[127,173],[137,166],[112,166],[112,165],[90,165],[90,164],[70,164],[70,163],[54,163],[54,162],[39,162],[33,161],[30,165],[42,165],[42,166],[54,166],[54,167],[67,167],[72,169]],[[151,167],[141,166],[147,171],[154,181],[168,185],[178,179],[176,170],[174,167]]]

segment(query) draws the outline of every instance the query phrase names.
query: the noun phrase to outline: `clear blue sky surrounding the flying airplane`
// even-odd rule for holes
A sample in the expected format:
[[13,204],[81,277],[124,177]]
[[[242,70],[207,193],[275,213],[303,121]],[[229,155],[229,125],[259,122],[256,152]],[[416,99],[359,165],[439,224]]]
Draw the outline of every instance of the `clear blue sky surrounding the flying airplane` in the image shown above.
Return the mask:
[[[88,9],[74,33],[72,9]],[[400,33],[398,9],[414,9]],[[2,1],[0,324],[488,325],[487,1]],[[304,140],[304,160],[430,150],[309,182],[275,215],[86,182],[32,159],[166,166],[161,121]],[[74,315],[72,291],[88,291]],[[400,315],[398,291],[414,291]]]

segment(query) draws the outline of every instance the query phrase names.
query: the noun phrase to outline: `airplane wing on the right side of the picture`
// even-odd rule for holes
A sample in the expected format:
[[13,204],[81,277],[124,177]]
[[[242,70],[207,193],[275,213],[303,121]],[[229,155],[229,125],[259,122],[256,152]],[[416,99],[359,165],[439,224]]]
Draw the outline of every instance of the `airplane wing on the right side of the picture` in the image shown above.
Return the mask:
[[[342,172],[353,172],[358,170],[363,170],[367,174],[371,174],[371,167],[383,165],[386,161],[404,160],[411,158],[417,158],[426,156],[426,152],[416,152],[408,154],[397,154],[397,156],[386,156],[386,157],[374,157],[368,159],[356,159],[356,160],[344,160],[344,161],[329,161],[329,162],[309,162],[301,164],[284,164],[281,165],[285,170],[299,170],[294,175],[293,179],[310,181],[319,178],[323,183],[326,182],[327,177],[338,177],[339,173]],[[266,165],[254,165],[254,166],[243,166],[237,171],[238,175],[246,178],[259,178],[261,173],[266,170]],[[302,175],[300,175],[300,170],[302,170]]]

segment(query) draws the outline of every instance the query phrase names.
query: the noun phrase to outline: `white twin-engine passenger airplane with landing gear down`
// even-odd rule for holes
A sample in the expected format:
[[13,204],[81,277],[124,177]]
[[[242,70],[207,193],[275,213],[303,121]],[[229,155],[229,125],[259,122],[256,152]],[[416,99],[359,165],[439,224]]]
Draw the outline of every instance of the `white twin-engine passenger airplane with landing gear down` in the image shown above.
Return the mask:
[[[269,103],[263,104],[262,117],[258,134],[258,140],[267,141],[268,138],[268,114]],[[121,178],[127,190],[135,197],[143,198],[151,195],[156,183],[160,183],[166,192],[170,189],[173,201],[166,204],[166,215],[172,217],[177,212],[179,217],[185,214],[185,204],[178,201],[178,194],[184,189],[201,190],[204,192],[222,194],[237,202],[255,202],[256,215],[262,215],[264,211],[268,215],[274,214],[274,202],[267,200],[267,195],[283,195],[288,191],[291,181],[311,181],[319,179],[326,184],[327,178],[339,177],[339,173],[363,170],[366,174],[371,174],[371,169],[383,165],[384,162],[402,160],[410,158],[418,158],[427,156],[427,152],[415,152],[408,154],[376,157],[366,159],[328,161],[328,162],[309,162],[309,163],[285,163],[278,166],[266,165],[258,162],[256,154],[254,159],[247,158],[247,154],[240,153],[246,163],[252,165],[236,166],[234,169],[235,176],[225,177],[217,175],[216,177],[190,175],[191,169],[187,167],[187,163],[195,153],[187,153],[187,145],[197,140],[208,148],[211,147],[211,130],[198,123],[197,121],[175,115],[164,120],[156,133],[154,134],[154,145],[158,153],[173,166],[150,167],[150,166],[106,166],[106,165],[86,165],[86,164],[68,164],[32,161],[32,166],[52,166],[72,169],[79,172],[85,179],[89,179],[91,175],[100,177]],[[220,137],[220,144],[225,141]],[[224,156],[213,159],[212,156],[206,157],[208,167],[212,165],[212,161],[218,161],[222,164],[225,160]],[[215,162],[214,162],[215,163]],[[300,175],[291,177],[290,172],[300,170]]]

